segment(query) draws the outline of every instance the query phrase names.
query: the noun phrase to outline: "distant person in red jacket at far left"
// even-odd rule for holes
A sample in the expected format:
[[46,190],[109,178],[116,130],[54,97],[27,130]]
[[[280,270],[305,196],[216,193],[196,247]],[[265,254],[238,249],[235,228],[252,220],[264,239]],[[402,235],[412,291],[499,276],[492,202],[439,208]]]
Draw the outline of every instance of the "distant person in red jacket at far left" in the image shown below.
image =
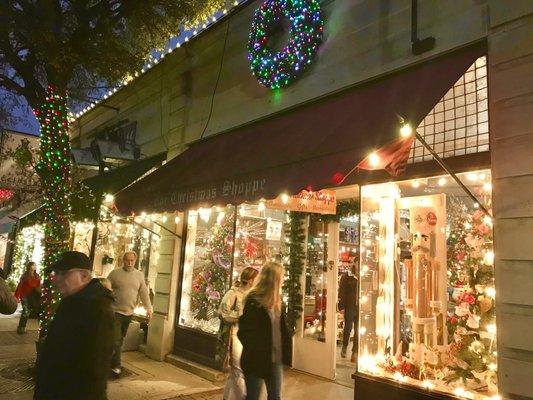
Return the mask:
[[37,274],[37,266],[33,261],[26,263],[24,273],[20,277],[19,284],[15,290],[15,297],[22,304],[17,333],[26,332],[26,323],[30,314],[35,313],[39,308],[41,298],[41,277]]

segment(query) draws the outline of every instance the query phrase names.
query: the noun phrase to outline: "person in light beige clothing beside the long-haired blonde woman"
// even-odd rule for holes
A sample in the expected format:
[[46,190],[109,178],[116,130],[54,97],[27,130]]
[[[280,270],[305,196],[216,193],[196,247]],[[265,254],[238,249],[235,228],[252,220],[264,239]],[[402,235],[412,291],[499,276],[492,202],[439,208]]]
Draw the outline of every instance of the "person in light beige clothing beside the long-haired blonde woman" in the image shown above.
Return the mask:
[[244,400],[246,397],[244,375],[240,366],[242,344],[237,337],[237,332],[239,330],[239,317],[244,310],[244,296],[253,286],[257,275],[258,272],[255,268],[244,268],[239,280],[226,292],[220,302],[218,311],[223,320],[221,330],[228,331],[223,335],[223,341],[224,344],[226,341],[228,344],[228,364],[230,367],[228,380],[224,387],[224,400]]

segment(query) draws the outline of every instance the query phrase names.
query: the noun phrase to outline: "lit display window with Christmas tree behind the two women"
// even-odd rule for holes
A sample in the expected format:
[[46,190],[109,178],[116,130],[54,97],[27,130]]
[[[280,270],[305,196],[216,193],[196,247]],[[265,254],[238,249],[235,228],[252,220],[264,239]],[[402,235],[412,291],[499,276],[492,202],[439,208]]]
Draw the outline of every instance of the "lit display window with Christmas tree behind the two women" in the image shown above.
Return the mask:
[[189,211],[179,325],[217,333],[220,300],[241,271],[281,260],[285,220],[264,203]]

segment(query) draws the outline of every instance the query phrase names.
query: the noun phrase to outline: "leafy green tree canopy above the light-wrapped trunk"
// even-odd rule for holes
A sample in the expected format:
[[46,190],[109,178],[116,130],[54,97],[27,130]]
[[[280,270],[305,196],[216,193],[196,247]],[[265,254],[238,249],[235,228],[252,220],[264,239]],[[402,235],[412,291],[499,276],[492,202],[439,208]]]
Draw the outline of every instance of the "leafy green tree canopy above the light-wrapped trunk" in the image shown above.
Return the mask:
[[[46,84],[87,93],[132,76],[224,0],[52,0],[0,2],[0,86],[36,108]],[[38,21],[39,23],[36,23]]]

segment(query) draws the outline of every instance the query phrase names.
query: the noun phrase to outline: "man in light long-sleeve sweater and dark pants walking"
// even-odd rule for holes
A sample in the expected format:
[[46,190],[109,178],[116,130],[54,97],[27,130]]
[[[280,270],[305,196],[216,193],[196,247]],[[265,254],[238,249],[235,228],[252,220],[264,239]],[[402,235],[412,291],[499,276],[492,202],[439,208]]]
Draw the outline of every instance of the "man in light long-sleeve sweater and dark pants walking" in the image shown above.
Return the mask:
[[133,309],[137,305],[137,299],[141,297],[148,318],[152,316],[152,304],[148,295],[148,288],[144,281],[144,274],[135,269],[137,254],[134,251],[124,253],[122,268],[111,271],[107,279],[111,282],[115,302],[115,344],[113,358],[111,359],[111,371],[116,376],[122,372],[120,362],[122,342],[131,322]]

